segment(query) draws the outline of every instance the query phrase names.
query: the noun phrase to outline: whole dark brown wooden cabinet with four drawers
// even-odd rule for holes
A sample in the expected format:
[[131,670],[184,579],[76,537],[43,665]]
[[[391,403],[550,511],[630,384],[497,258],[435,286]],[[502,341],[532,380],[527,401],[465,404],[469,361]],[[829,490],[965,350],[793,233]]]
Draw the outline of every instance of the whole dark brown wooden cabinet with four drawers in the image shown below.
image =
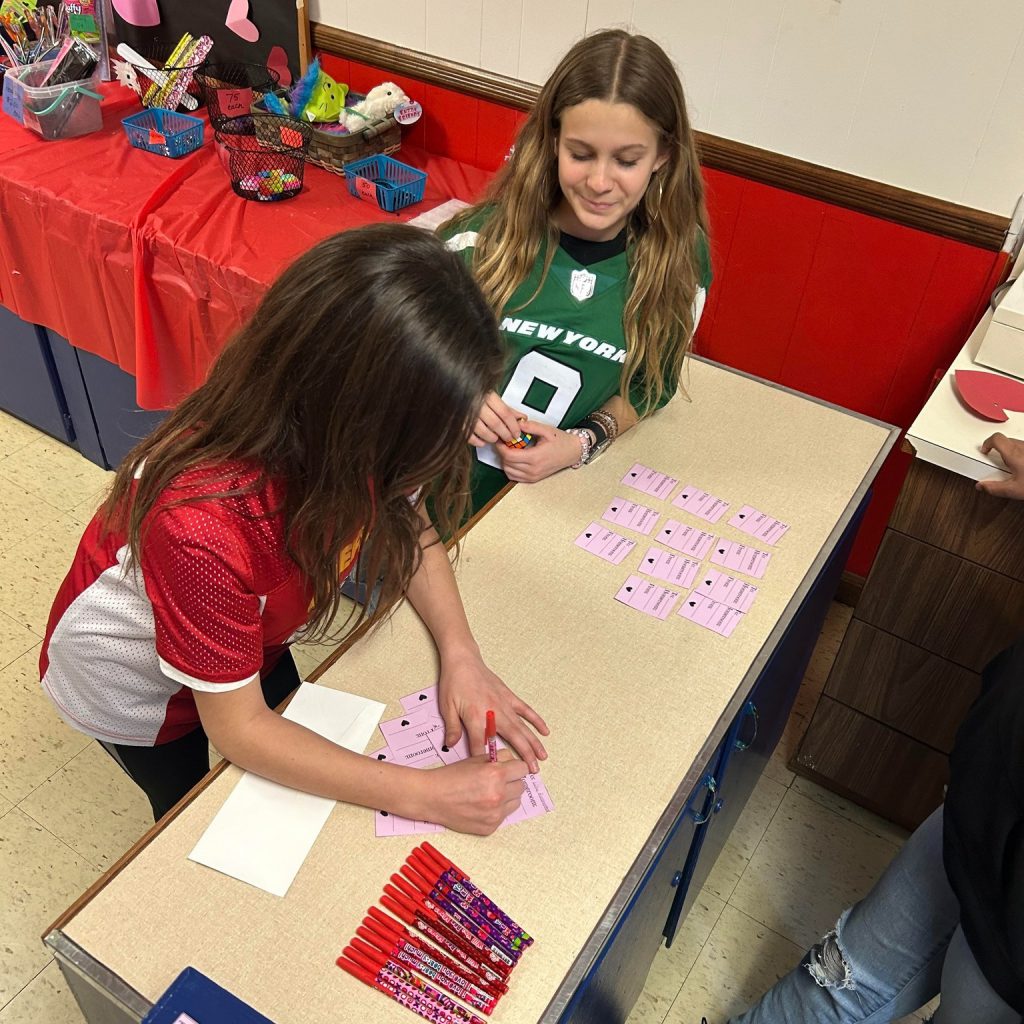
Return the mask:
[[791,767],[906,828],[986,663],[1024,634],[1024,503],[916,460]]

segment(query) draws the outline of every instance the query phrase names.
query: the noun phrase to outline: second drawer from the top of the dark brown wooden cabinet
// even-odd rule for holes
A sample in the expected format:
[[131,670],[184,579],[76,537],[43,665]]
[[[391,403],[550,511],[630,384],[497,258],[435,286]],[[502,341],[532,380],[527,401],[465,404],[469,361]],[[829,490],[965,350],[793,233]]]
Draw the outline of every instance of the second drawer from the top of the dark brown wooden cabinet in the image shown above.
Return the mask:
[[888,529],[857,617],[980,672],[1024,633],[1024,583]]

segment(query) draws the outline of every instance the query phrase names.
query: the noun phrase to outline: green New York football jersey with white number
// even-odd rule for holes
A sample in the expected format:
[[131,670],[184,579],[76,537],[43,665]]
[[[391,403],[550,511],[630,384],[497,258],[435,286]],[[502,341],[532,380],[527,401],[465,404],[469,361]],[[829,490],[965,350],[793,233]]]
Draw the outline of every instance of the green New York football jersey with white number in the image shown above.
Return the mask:
[[[474,225],[445,236],[449,248],[472,265]],[[564,428],[618,394],[626,361],[623,309],[629,269],[628,252],[584,266],[559,246],[538,289],[544,270],[542,251],[529,276],[506,304],[510,311],[500,325],[509,349],[498,388],[505,402],[531,420]],[[694,327],[703,308],[706,287],[694,303]],[[671,382],[666,401],[677,384]],[[639,397],[635,403],[639,404]],[[473,511],[508,483],[494,445],[475,452]]]

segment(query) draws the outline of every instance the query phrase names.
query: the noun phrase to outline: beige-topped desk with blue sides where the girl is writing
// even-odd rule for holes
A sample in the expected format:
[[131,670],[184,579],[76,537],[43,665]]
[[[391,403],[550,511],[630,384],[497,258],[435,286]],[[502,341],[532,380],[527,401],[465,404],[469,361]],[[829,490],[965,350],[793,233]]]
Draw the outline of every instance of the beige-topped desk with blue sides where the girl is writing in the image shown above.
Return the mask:
[[[485,656],[552,728],[543,771],[555,813],[482,840],[431,838],[538,937],[496,1024],[625,1019],[775,744],[895,440],[895,428],[698,359],[685,383],[691,401],[676,398],[580,472],[513,488],[465,542],[460,586]],[[612,600],[642,541],[617,567],[573,546],[635,461],[792,524],[730,640]],[[398,713],[399,695],[434,679],[432,644],[402,608],[319,682]],[[733,760],[750,760],[730,792],[722,767],[738,746]],[[239,774],[227,767],[194,794],[47,937],[89,1020],[138,1021],[191,964],[276,1024],[408,1024],[334,957],[413,843],[376,840],[369,811],[338,805],[276,899],[186,859]]]

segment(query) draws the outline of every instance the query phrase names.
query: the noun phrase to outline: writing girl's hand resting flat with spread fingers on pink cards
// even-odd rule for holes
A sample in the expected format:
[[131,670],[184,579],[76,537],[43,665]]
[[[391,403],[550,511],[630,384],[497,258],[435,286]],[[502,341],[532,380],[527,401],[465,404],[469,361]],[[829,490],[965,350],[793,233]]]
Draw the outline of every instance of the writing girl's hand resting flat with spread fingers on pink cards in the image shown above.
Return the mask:
[[526,726],[528,722],[547,736],[547,723],[483,664],[479,654],[441,657],[437,703],[449,746],[459,742],[465,727],[470,754],[483,754],[486,716],[493,711],[499,734],[526,762],[530,772],[539,771],[539,762],[548,757],[544,744]]

